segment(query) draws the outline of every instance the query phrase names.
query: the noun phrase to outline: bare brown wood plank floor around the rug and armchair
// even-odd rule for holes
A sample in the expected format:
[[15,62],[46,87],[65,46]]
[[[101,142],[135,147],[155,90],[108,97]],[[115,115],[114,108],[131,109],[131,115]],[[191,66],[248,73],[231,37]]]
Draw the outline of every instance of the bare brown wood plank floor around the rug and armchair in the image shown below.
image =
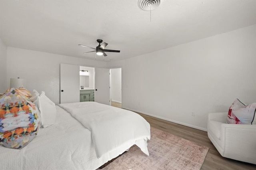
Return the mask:
[[[116,102],[111,105],[115,107],[121,107],[121,104]],[[138,114],[144,117],[144,119],[146,119],[146,121],[150,123],[151,127],[158,128],[176,136],[209,147],[210,150],[208,151],[201,170],[256,170],[256,165],[222,157],[213,146],[212,142],[209,140],[207,132],[205,131],[186,127],[183,125],[144,115],[142,113]]]

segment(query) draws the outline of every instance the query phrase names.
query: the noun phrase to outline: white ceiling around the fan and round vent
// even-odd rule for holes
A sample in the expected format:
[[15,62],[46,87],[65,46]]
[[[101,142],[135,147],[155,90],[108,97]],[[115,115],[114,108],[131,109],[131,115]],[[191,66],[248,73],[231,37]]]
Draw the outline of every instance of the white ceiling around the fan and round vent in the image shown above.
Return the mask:
[[[10,47],[95,59],[78,44],[107,42],[104,61],[126,59],[256,24],[256,0],[0,0],[0,38]],[[103,60],[97,56],[97,60]]]

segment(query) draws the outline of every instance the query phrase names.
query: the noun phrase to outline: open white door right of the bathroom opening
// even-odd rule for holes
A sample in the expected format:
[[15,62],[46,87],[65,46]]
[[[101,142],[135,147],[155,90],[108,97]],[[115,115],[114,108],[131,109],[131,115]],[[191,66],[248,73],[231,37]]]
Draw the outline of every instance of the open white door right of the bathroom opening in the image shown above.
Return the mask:
[[110,105],[110,69],[95,68],[94,101]]

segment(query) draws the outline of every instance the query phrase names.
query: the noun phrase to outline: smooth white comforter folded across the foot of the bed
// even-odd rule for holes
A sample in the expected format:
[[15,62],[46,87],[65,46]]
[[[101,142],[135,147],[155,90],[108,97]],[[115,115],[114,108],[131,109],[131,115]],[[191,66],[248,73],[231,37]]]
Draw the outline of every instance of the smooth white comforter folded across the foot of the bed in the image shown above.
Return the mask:
[[91,131],[98,158],[125,143],[130,145],[132,141],[149,155],[146,142],[150,139],[150,125],[137,113],[96,102],[59,106]]

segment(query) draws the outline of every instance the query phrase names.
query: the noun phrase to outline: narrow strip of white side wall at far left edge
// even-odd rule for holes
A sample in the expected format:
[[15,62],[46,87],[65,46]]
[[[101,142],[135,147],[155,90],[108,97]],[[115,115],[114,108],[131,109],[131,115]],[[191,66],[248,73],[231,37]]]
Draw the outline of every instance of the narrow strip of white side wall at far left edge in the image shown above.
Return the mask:
[[7,87],[7,47],[0,39],[0,93],[4,93]]

